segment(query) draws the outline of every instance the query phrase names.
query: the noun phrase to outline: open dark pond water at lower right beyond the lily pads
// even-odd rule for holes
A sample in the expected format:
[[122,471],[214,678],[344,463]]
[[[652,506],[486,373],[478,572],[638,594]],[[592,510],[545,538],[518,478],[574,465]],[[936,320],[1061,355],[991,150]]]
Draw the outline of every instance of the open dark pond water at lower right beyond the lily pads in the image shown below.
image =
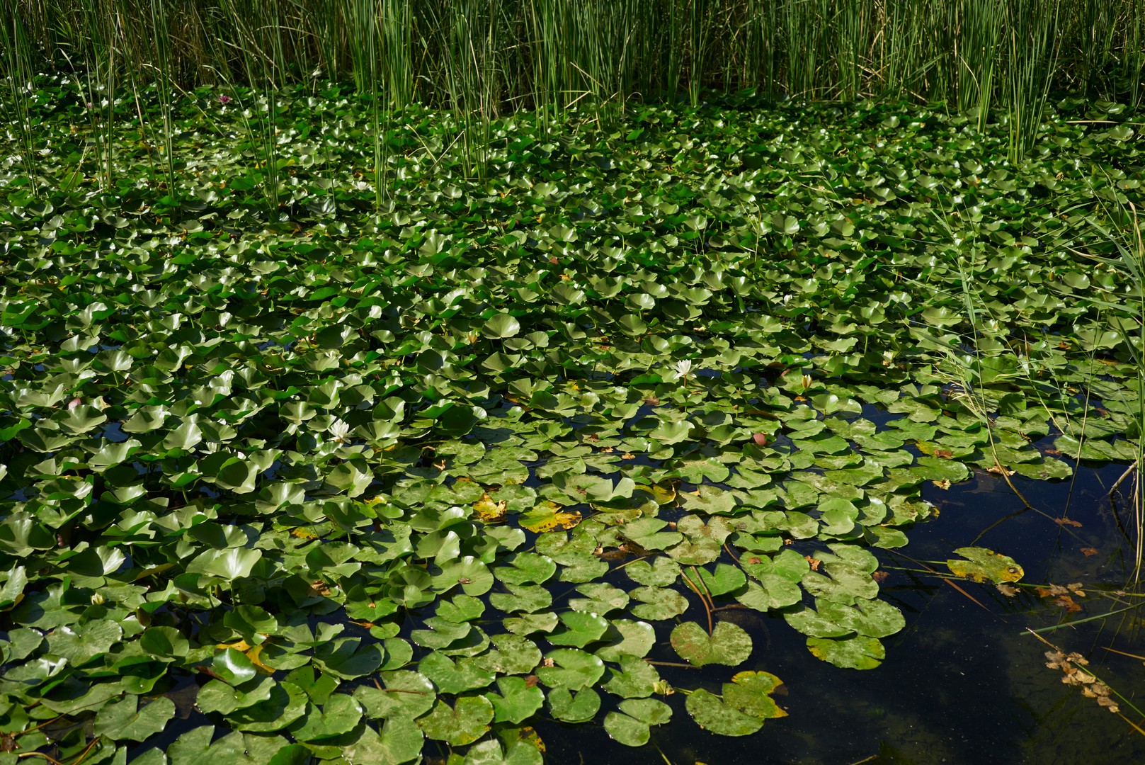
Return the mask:
[[[743,667],[657,669],[677,687],[708,687],[717,693],[735,671],[767,670],[787,683],[787,695],[776,699],[788,717],[768,720],[751,736],[711,735],[688,717],[682,694],[676,694],[666,699],[673,708],[672,721],[653,728],[652,743],[640,749],[616,744],[600,725],[538,724],[548,760],[618,765],[1145,763],[1145,736],[1096,700],[1083,697],[1077,687],[1063,684],[1061,672],[1045,667],[1043,654],[1049,647],[1025,633],[1026,628],[1064,624],[1145,601],[1122,597],[1119,604],[1100,596],[1103,589],[1111,594],[1122,587],[1132,590],[1128,584],[1132,544],[1106,496],[1123,470],[1082,466],[1075,480],[1056,483],[1013,476],[1032,510],[1025,508],[1001,476],[988,473],[979,472],[948,491],[927,484],[925,498],[938,505],[940,515],[908,531],[910,544],[903,552],[916,560],[943,561],[955,557],[956,547],[978,545],[1014,558],[1025,568],[1024,582],[1081,583],[1087,597],[1074,600],[1082,610],[1067,614],[1051,602],[1053,598],[1041,598],[1032,589],[1009,598],[993,584],[960,583],[976,604],[938,577],[891,569],[882,583],[882,597],[899,606],[907,628],[884,639],[887,657],[878,669],[845,670],[819,661],[781,618],[757,618],[753,625],[741,622],[756,642]],[[1055,522],[1063,516],[1081,526]],[[1132,538],[1132,519],[1124,511],[1122,522]],[[1090,554],[1082,549],[1090,549]],[[918,568],[893,554],[879,555],[887,568]],[[1042,634],[1067,653],[1087,656],[1091,662],[1087,669],[1145,710],[1139,693],[1145,689],[1142,661],[1105,650],[1145,655],[1143,616],[1145,609],[1132,609]],[[666,630],[657,637],[666,638]],[[670,647],[660,648],[653,657],[676,658]],[[1145,727],[1124,703],[1121,713]],[[431,750],[426,755],[432,756]]]

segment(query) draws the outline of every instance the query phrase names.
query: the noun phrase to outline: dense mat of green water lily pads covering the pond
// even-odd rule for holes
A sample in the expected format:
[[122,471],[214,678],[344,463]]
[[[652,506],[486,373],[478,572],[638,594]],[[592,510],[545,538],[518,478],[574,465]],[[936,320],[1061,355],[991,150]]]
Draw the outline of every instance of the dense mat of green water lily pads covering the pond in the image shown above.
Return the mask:
[[[793,679],[735,616],[877,668],[906,624],[881,555],[939,492],[1139,455],[1135,287],[1074,253],[1136,198],[1115,105],[1048,108],[1020,163],[906,104],[569,108],[492,119],[479,173],[464,119],[338,86],[141,92],[84,127],[73,85],[22,95],[47,151],[0,167],[23,751],[751,734]],[[1021,578],[956,553],[946,576]]]

